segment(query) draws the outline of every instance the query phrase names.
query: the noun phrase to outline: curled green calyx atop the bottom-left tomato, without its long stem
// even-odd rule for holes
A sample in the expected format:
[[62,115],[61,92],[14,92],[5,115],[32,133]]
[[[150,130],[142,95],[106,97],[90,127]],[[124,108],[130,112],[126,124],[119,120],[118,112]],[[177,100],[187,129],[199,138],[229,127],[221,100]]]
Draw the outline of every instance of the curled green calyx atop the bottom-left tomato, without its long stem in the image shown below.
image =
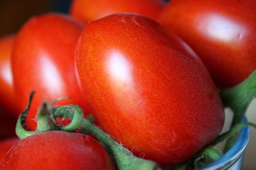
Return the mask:
[[[33,99],[33,96],[35,94],[35,91],[32,91],[30,96],[29,96],[29,103],[24,110],[16,124],[16,134],[19,136],[20,139],[24,139],[28,136],[31,136],[32,134],[36,134],[39,132],[46,132],[46,131],[67,131],[67,132],[74,132],[76,131],[79,127],[81,127],[82,124],[82,119],[83,119],[83,111],[81,108],[77,105],[67,105],[65,107],[51,107],[51,104],[53,103],[42,103],[42,106],[40,107],[37,115],[36,115],[36,120],[37,120],[37,127],[36,131],[28,131],[24,129],[24,125],[26,124],[26,117],[28,115],[29,108],[31,106],[31,102]],[[55,101],[54,101],[55,102]],[[65,114],[61,114],[61,113]],[[75,113],[72,114],[74,117],[72,118],[72,122],[68,125],[62,126],[56,122],[56,117],[58,115],[61,115],[62,117],[65,117],[66,114],[68,113]],[[54,114],[53,114],[54,113]]]

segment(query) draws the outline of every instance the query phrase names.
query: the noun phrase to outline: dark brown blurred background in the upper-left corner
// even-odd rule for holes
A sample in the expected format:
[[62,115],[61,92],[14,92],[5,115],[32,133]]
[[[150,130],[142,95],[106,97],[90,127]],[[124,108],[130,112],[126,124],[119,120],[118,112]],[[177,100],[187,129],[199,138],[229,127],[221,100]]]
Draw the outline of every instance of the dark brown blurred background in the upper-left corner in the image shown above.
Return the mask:
[[68,13],[71,0],[0,0],[0,37],[12,34],[33,15]]

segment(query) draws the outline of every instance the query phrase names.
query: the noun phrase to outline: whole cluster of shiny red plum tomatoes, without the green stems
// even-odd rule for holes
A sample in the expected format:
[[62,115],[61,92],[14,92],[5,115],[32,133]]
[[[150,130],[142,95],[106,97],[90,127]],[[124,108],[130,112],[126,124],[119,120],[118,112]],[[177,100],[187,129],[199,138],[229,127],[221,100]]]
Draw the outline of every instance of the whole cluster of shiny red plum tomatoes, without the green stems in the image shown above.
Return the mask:
[[[17,118],[35,90],[24,125],[36,131],[42,103],[70,97],[52,107],[81,106],[137,157],[160,166],[189,159],[223,127],[215,83],[233,87],[256,68],[255,3],[225,3],[231,8],[212,0],[74,0],[70,16],[32,17],[1,38],[1,107]],[[6,140],[3,152],[16,144],[0,156],[0,169],[115,169],[118,161],[92,137],[52,131]]]

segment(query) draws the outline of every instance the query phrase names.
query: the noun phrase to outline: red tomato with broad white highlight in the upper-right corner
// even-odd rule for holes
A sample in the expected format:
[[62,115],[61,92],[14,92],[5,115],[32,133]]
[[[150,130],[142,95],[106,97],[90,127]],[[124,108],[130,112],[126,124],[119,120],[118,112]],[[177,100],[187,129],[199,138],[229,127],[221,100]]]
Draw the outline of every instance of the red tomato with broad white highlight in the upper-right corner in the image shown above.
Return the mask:
[[220,88],[256,69],[256,1],[172,0],[159,22],[202,58]]

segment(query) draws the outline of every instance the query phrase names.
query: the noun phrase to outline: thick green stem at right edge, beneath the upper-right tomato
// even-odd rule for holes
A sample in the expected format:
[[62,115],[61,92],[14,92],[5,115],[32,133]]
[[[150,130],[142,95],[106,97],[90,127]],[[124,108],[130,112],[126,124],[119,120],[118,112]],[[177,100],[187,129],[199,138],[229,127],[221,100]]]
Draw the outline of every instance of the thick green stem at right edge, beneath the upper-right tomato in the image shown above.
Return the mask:
[[[256,95],[256,71],[239,85],[230,89],[221,90],[220,96],[225,104],[234,112],[234,118],[232,120],[232,127],[239,124],[246,113],[246,110],[251,103],[253,97]],[[227,140],[224,152],[227,152],[232,148],[236,142],[236,136],[232,136]]]

